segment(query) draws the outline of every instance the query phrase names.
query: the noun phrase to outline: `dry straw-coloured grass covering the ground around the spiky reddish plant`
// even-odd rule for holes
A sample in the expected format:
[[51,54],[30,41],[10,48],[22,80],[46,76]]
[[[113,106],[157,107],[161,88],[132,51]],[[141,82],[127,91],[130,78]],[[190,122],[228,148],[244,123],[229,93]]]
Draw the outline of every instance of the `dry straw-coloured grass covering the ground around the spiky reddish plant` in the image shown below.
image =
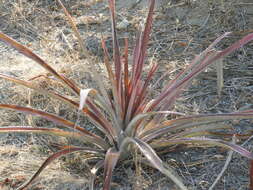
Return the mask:
[[[44,56],[50,65],[83,87],[95,85],[91,80],[92,73],[87,70],[85,60],[78,59],[78,51],[75,45],[77,39],[73,37],[70,27],[64,20],[63,12],[55,1],[2,0],[2,2],[0,3],[1,30],[22,43],[28,44],[30,48]],[[225,31],[235,32],[232,38],[220,44],[220,47],[224,47],[251,30],[253,5],[247,3],[251,3],[251,0],[164,1],[163,6],[159,7],[156,12],[149,49],[154,60],[161,64],[157,77],[168,72],[168,75],[157,85],[157,90],[159,91],[165,81],[173,78],[181,68],[189,63],[194,55],[203,50],[220,34]],[[87,16],[83,18],[88,18],[88,16],[100,14],[102,19],[108,16],[105,4],[106,2],[68,1],[67,8],[77,18],[83,15]],[[130,26],[121,30],[120,36],[132,36],[136,29],[136,23],[143,19],[146,9],[141,3],[134,9],[124,12],[123,6],[121,10],[119,12],[122,14],[118,15],[119,20],[127,19]],[[78,25],[84,39],[88,36],[95,36],[99,39],[101,31],[105,35],[109,33],[108,20],[102,19],[102,21],[96,22]],[[134,37],[130,37],[130,40],[131,38]],[[95,44],[96,49],[99,50],[99,47]],[[45,88],[53,87],[59,91],[66,90],[59,86],[55,80],[48,79],[50,76],[41,72],[41,68],[35,66],[30,60],[20,55],[17,56],[15,52],[3,47],[2,44],[0,44],[0,54],[4,55],[1,56],[3,59],[0,60],[1,72],[25,79],[44,75],[44,77],[34,79],[34,82],[38,85],[46,85]],[[225,82],[221,97],[217,94],[216,71],[210,68],[193,81],[193,85],[178,101],[175,109],[185,113],[231,112],[252,109],[252,56],[252,44],[249,44],[224,60]],[[101,72],[103,72],[102,66]],[[30,105],[52,113],[60,113],[61,116],[72,120],[76,118],[75,113],[69,107],[60,105],[58,102],[52,102],[47,97],[28,92],[21,87],[13,86],[11,83],[1,81],[0,89],[1,102]],[[70,92],[66,93],[71,96]],[[1,110],[0,115],[1,126],[20,123],[25,125],[31,122],[39,126],[45,122],[38,118],[30,118],[10,111]],[[52,125],[51,123],[47,124]],[[88,121],[87,124],[90,125]],[[251,129],[252,122],[230,122],[226,125],[232,125],[235,131],[243,133]],[[7,177],[9,180],[14,180],[12,183],[24,181],[23,178],[31,176],[46,158],[45,152],[50,153],[50,149],[54,150],[50,143],[48,147],[44,145],[44,137],[19,135],[16,138],[12,135],[1,135],[0,138],[3,145],[0,146],[0,182],[6,180]],[[46,141],[68,143],[65,139],[48,138]],[[241,140],[238,143],[243,142]],[[245,144],[245,147],[248,150],[253,150],[251,142]],[[146,172],[144,172],[143,168],[146,166],[140,165],[138,158],[136,159],[135,164],[126,163],[126,165],[117,168],[115,171],[117,176],[114,176],[116,183],[114,187],[116,189],[119,187],[124,187],[124,189],[166,189],[169,187],[167,178],[154,170],[145,170]],[[78,167],[70,168],[70,163],[73,163],[73,160],[81,163],[76,156],[72,157],[69,163],[61,160],[52,164],[42,173],[32,189],[77,190],[83,188],[86,185],[87,176],[85,177],[84,171],[81,170],[84,170],[85,167],[81,167],[81,169]],[[216,148],[208,150],[193,148],[187,152],[184,149],[179,149],[173,153],[165,154],[163,160],[167,160],[170,165],[175,167],[184,177],[186,183],[191,184],[191,186],[196,185],[196,189],[204,190],[211,186],[219,174],[226,160],[226,152]],[[120,175],[118,176],[118,174]],[[248,180],[248,161],[235,154],[224,177],[214,189],[246,190]],[[100,183],[99,179],[98,183]],[[6,185],[4,188],[8,189],[9,186]]]

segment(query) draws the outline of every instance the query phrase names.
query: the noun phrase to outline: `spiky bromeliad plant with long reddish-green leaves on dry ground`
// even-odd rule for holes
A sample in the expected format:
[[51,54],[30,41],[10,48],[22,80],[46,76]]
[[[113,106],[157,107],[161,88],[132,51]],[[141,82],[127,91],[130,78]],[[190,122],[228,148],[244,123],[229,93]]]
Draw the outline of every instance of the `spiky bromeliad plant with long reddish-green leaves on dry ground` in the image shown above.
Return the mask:
[[[253,159],[253,154],[241,146],[221,139],[213,138],[215,133],[212,133],[211,131],[213,129],[221,128],[221,126],[209,125],[210,123],[232,119],[252,119],[253,110],[191,116],[180,115],[180,113],[168,111],[172,109],[177,97],[179,97],[182,91],[188,87],[194,77],[218,59],[225,57],[250,42],[253,39],[253,34],[245,36],[222,51],[215,51],[214,46],[220,40],[229,35],[229,33],[225,33],[215,40],[200,55],[196,56],[196,58],[185,70],[178,73],[175,79],[171,80],[161,90],[159,95],[151,99],[149,92],[153,90],[153,87],[151,86],[150,81],[158,68],[158,64],[154,63],[151,66],[151,69],[148,71],[145,79],[142,73],[151,33],[155,0],[150,0],[146,25],[137,38],[131,64],[128,63],[127,40],[125,41],[124,56],[120,56],[120,48],[115,29],[115,2],[114,0],[108,0],[108,2],[112,20],[113,68],[110,64],[109,54],[104,40],[102,40],[102,46],[105,55],[104,62],[108,72],[108,80],[110,82],[110,90],[112,91],[113,98],[108,95],[108,89],[105,88],[94,66],[93,74],[95,80],[98,82],[99,89],[80,89],[76,84],[74,84],[74,82],[56,72],[51,66],[49,66],[27,47],[19,44],[7,35],[0,33],[0,39],[3,42],[11,45],[20,53],[31,58],[44,67],[48,72],[53,74],[57,79],[59,79],[59,81],[73,90],[76,96],[79,96],[80,102],[69,99],[54,90],[41,89],[30,81],[24,81],[0,74],[2,79],[34,89],[39,93],[48,95],[71,105],[73,108],[78,110],[78,114],[84,114],[90,118],[95,123],[97,129],[103,134],[95,134],[94,132],[87,130],[82,123],[79,125],[77,124],[78,122],[72,122],[44,111],[18,105],[0,104],[0,108],[2,109],[16,110],[25,114],[40,116],[58,124],[59,126],[72,129],[72,131],[69,131],[63,130],[62,127],[59,129],[12,126],[1,127],[0,132],[42,133],[76,138],[86,143],[86,146],[63,147],[60,151],[49,156],[38,171],[25,184],[19,187],[18,190],[25,189],[29,184],[31,184],[41,171],[53,160],[77,151],[89,153],[97,159],[97,163],[91,170],[91,189],[93,189],[93,182],[95,180],[96,173],[100,168],[104,168],[103,189],[110,189],[113,169],[118,162],[130,158],[130,153],[134,150],[134,147],[137,147],[144,156],[144,158],[141,159],[143,162],[149,163],[151,166],[158,169],[174,181],[180,189],[184,190],[187,189],[187,187],[183,184],[183,181],[165,162],[159,158],[156,150],[165,149],[178,144],[191,144],[196,146],[201,144],[202,146],[207,145],[208,147],[225,147],[249,159]],[[70,15],[67,13],[64,6],[63,8],[68,16],[68,19],[71,21]],[[71,22],[71,24],[77,34],[77,37],[80,38],[73,22]],[[180,117],[171,120],[166,119],[166,116],[171,114],[179,114]]]

